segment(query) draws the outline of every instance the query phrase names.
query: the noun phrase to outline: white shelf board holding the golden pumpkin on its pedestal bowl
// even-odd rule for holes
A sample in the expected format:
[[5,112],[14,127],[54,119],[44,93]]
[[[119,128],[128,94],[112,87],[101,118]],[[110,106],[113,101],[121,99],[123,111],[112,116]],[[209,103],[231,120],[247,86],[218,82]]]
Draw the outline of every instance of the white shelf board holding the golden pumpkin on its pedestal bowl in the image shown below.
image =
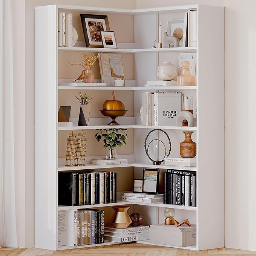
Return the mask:
[[183,131],[195,131],[196,126],[144,126],[137,124],[127,124],[127,125],[118,125],[118,126],[108,126],[108,125],[99,125],[99,126],[68,126],[68,127],[58,127],[58,130],[96,130],[96,129],[110,129],[110,128],[135,128],[135,129],[163,129],[163,130],[183,130]]

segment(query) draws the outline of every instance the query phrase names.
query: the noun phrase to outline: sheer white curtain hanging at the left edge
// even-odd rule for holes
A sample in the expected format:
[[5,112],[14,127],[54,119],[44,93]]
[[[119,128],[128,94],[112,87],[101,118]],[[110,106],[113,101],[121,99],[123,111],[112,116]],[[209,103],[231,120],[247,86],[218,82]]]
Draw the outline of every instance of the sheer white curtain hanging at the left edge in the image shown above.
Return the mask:
[[14,177],[11,2],[11,0],[0,0],[0,245],[18,247]]

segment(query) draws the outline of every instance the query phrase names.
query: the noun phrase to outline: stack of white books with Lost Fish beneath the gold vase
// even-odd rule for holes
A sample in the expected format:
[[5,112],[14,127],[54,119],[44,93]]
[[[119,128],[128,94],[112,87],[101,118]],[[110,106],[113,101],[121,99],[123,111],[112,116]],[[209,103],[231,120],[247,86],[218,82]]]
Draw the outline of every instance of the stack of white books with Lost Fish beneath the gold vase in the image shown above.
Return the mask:
[[117,243],[149,240],[149,226],[105,227],[105,240]]

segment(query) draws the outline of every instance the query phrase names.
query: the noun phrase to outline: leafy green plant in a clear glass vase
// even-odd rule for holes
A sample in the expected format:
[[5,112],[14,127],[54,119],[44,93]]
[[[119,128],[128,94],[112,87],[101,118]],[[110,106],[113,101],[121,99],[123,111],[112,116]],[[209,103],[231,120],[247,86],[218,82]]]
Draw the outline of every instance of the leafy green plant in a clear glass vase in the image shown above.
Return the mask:
[[107,149],[106,159],[117,159],[116,147],[126,144],[128,138],[127,129],[97,129],[95,134],[97,141],[103,139],[104,148]]

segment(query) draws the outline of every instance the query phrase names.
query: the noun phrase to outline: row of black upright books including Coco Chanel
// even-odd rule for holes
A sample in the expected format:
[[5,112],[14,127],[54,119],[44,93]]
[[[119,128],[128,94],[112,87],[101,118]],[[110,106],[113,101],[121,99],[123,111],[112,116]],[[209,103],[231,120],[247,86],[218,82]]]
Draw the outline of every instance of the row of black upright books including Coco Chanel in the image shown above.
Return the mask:
[[167,170],[163,182],[164,204],[196,207],[196,172]]

